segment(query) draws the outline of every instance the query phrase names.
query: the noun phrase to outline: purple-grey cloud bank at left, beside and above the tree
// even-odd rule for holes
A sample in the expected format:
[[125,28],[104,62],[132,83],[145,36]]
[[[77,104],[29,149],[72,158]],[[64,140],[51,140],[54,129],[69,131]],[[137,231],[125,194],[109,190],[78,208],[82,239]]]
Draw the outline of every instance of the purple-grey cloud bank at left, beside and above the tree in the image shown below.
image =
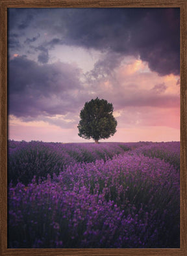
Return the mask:
[[[64,115],[74,111],[81,70],[65,63],[37,64],[16,57],[8,65],[8,111],[16,117]],[[73,104],[72,104],[73,102]]]

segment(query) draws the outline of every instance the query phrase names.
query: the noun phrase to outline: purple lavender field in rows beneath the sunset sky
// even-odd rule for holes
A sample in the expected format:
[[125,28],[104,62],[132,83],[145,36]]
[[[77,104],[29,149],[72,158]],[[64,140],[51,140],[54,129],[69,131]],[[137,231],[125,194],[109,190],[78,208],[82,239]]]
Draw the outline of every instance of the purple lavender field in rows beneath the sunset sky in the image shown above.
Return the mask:
[[179,247],[179,142],[8,141],[8,248]]

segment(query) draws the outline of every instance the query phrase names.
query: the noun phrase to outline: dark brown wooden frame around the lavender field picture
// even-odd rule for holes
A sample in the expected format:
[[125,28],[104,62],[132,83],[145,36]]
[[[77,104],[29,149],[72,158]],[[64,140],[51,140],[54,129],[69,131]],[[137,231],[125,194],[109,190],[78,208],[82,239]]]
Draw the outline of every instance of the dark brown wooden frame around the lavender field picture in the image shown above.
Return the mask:
[[[187,255],[187,0],[0,0],[0,255]],[[178,7],[181,12],[181,246],[179,249],[7,249],[7,8]],[[172,225],[172,224],[171,224]]]

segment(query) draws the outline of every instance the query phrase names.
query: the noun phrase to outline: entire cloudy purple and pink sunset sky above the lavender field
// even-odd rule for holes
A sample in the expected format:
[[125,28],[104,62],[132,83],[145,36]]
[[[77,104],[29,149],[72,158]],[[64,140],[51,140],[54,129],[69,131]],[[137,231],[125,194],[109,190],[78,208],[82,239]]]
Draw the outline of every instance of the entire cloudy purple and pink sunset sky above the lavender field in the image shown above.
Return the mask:
[[179,141],[179,44],[179,8],[10,8],[8,138],[87,142],[98,96],[118,121],[105,141]]

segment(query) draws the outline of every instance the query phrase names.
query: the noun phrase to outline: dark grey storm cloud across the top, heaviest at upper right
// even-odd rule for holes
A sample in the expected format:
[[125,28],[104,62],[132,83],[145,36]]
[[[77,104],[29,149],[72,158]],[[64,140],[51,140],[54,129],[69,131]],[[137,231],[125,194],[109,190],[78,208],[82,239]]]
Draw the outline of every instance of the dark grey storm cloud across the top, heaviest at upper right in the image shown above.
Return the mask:
[[40,24],[49,35],[42,44],[49,48],[66,44],[120,55],[140,55],[161,76],[179,75],[179,8],[32,9],[26,16],[28,12],[28,9],[9,11],[9,20],[18,20],[13,32],[29,25],[34,31]]

